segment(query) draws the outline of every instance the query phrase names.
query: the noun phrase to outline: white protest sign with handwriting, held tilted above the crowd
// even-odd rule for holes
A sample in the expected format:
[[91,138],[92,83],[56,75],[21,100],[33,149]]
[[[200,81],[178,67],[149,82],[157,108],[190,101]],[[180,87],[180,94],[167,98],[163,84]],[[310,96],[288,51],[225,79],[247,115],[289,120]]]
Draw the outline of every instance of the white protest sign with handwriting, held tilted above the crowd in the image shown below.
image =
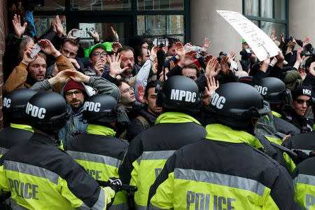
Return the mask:
[[260,61],[278,55],[279,48],[264,31],[243,15],[233,11],[216,10],[248,43]]

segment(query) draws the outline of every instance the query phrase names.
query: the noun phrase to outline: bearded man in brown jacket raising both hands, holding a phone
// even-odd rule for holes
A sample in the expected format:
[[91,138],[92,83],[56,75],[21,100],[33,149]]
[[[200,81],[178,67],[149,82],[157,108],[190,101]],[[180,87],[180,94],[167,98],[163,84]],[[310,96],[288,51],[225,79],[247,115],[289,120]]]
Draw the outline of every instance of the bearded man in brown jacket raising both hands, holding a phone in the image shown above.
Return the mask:
[[[59,71],[64,69],[73,69],[73,65],[62,55],[52,43],[43,39],[38,41],[38,44],[41,44],[41,50],[47,55],[52,55],[56,59],[56,65]],[[34,50],[34,45],[31,45],[23,55],[22,62],[13,69],[12,73],[6,80],[6,84],[3,85],[3,92],[11,92],[12,90],[30,88],[38,80],[43,80],[45,78],[46,72],[46,56],[45,54],[39,52],[38,55],[35,55],[34,58],[31,58],[30,55]],[[56,86],[57,91],[59,87]],[[59,92],[59,91],[58,91]]]

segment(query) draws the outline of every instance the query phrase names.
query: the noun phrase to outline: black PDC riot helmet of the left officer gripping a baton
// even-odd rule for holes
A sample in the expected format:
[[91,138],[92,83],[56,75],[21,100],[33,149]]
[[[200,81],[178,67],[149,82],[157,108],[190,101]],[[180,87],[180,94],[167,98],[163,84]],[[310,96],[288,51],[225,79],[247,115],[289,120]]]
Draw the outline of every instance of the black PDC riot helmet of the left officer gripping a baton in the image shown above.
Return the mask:
[[57,92],[41,91],[27,103],[25,113],[29,125],[44,131],[59,130],[69,120],[71,109]]

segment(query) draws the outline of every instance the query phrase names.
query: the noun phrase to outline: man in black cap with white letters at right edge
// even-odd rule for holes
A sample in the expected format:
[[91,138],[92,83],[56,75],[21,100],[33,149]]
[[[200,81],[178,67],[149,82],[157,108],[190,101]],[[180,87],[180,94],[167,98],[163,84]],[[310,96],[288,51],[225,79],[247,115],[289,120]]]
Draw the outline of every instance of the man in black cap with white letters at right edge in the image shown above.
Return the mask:
[[300,129],[301,132],[311,132],[313,130],[314,119],[305,116],[311,97],[314,97],[314,92],[311,87],[302,86],[293,90],[292,98],[294,108],[286,110],[288,116],[292,118],[290,123]]

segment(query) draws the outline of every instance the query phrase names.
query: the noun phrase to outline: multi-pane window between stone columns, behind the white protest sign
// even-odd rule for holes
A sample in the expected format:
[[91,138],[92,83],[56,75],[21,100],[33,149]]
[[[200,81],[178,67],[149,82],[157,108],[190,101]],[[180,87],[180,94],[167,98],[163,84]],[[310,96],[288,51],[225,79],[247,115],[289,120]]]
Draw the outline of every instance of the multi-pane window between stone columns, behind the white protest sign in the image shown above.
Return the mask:
[[268,36],[288,35],[288,0],[243,0],[243,14]]

